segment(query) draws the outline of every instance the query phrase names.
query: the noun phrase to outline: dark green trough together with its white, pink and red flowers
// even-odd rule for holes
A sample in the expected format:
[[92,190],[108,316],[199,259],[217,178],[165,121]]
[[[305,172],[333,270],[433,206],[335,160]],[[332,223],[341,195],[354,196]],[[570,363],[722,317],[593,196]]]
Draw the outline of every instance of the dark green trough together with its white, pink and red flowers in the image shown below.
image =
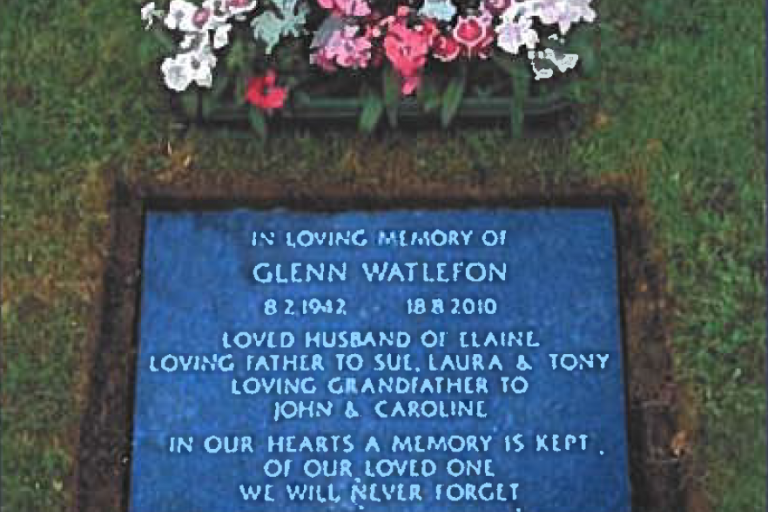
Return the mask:
[[[172,0],[142,10],[173,56],[160,66],[186,119],[508,120],[585,99],[591,0]],[[216,78],[214,78],[214,70]]]

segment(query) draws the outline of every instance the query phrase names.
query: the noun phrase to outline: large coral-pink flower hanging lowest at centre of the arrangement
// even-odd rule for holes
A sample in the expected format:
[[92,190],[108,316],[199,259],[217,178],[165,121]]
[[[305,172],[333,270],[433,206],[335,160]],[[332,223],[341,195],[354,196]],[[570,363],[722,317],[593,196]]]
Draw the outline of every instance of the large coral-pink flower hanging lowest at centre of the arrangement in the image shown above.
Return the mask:
[[421,70],[427,63],[429,40],[426,31],[408,28],[403,21],[395,21],[384,38],[384,51],[402,79],[401,92],[413,93],[421,81]]

